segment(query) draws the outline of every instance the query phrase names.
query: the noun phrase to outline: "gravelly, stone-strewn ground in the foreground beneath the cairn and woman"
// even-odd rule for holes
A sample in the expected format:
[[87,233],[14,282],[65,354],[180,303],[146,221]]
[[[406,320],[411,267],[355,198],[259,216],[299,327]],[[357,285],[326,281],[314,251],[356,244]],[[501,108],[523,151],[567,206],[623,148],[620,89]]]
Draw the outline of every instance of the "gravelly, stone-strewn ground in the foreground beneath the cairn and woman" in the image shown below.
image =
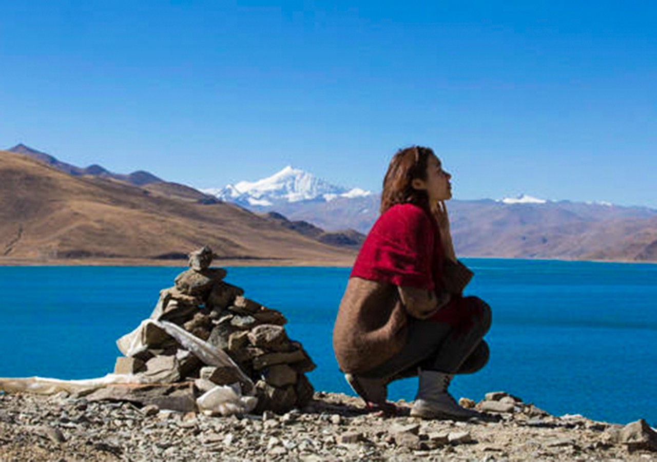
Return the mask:
[[381,417],[357,398],[324,392],[284,415],[242,417],[140,409],[66,392],[0,394],[0,460],[657,461],[656,434],[643,421],[623,427],[555,417],[506,394],[489,394],[482,406],[497,407],[500,420]]

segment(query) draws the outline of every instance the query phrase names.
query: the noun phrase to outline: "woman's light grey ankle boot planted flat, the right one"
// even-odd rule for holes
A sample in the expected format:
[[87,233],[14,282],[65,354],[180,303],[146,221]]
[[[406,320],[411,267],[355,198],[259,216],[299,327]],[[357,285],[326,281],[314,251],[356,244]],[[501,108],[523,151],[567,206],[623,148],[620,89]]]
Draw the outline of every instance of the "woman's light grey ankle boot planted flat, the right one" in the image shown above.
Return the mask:
[[419,386],[411,407],[412,417],[422,419],[468,420],[482,413],[459,406],[447,392],[452,376],[438,371],[418,371]]

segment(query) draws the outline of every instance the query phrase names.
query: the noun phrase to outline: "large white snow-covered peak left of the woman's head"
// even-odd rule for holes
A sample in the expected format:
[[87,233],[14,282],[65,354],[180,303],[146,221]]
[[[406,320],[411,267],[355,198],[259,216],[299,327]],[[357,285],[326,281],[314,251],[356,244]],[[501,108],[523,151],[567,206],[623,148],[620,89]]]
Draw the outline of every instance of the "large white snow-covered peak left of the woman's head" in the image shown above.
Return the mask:
[[221,200],[242,206],[271,207],[275,204],[312,200],[329,202],[338,197],[357,198],[369,196],[370,191],[332,185],[292,166],[258,181],[240,181],[221,189],[202,189],[202,192]]

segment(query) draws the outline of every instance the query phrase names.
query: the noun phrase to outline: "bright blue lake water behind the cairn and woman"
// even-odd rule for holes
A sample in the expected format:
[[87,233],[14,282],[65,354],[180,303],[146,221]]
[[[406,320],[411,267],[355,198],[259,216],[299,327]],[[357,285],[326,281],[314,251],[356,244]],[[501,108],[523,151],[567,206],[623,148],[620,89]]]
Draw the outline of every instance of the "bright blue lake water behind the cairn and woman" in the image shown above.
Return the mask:
[[[555,415],[657,425],[657,265],[464,259],[466,294],[493,310],[491,358],[460,376],[456,398],[505,390]],[[353,394],[331,331],[350,272],[326,267],[229,267],[226,281],[288,318],[317,369],[317,390]],[[112,371],[115,341],[148,317],[171,267],[0,267],[0,377],[84,379]],[[417,379],[390,398],[412,400]]]

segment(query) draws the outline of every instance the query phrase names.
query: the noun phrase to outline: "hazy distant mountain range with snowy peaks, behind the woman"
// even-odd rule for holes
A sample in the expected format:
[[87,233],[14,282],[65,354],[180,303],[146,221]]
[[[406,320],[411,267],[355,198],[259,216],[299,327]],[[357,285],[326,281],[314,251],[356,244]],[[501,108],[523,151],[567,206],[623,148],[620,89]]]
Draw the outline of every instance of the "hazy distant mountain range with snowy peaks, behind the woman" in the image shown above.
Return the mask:
[[[290,167],[260,181],[237,185],[243,186],[235,198],[245,208],[275,211],[322,229],[354,229],[367,234],[379,215],[380,194],[330,185]],[[231,200],[225,193],[231,191],[231,185],[204,191]],[[344,192],[327,196],[327,191]],[[554,201],[524,194],[498,200],[450,200],[447,206],[455,246],[463,256],[657,261],[657,210],[651,208]]]

